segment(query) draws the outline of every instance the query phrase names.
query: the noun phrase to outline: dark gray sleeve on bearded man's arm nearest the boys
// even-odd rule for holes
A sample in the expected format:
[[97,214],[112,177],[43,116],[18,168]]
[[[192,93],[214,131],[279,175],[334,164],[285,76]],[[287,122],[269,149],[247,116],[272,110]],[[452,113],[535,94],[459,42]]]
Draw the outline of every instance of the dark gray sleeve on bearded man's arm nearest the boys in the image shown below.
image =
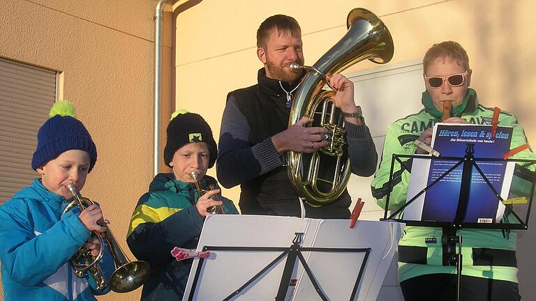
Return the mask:
[[283,164],[271,137],[251,145],[249,135],[246,116],[241,113],[236,100],[231,96],[221,119],[216,161],[216,174],[225,188],[257,178]]

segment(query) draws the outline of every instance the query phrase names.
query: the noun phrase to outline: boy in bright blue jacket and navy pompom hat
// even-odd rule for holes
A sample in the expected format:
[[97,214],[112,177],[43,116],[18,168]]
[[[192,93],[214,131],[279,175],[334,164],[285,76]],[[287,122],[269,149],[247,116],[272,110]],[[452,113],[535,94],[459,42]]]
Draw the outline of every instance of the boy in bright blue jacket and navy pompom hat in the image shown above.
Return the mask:
[[[63,116],[62,116],[63,115]],[[69,116],[70,115],[70,116]],[[0,261],[4,300],[96,300],[90,277],[78,278],[69,259],[84,246],[96,256],[100,245],[90,231],[103,233],[98,205],[62,214],[97,160],[96,146],[74,107],[58,102],[37,134],[31,167],[40,173],[31,185],[0,206]],[[113,264],[113,262],[111,262]]]

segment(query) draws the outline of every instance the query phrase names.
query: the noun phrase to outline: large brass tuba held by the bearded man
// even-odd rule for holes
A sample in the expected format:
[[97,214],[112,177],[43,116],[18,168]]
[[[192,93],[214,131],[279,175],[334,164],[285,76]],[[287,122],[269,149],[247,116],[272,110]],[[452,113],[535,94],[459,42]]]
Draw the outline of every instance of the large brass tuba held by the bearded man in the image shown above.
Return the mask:
[[311,206],[335,201],[350,179],[350,162],[345,147],[344,118],[331,99],[334,91],[322,91],[325,75],[341,72],[359,61],[387,63],[394,52],[393,40],[383,22],[369,10],[354,8],[346,21],[348,32],[313,66],[291,65],[306,70],[290,109],[288,125],[303,116],[313,119],[308,126],[328,129],[328,145],[315,153],[288,152],[288,176],[299,196]]

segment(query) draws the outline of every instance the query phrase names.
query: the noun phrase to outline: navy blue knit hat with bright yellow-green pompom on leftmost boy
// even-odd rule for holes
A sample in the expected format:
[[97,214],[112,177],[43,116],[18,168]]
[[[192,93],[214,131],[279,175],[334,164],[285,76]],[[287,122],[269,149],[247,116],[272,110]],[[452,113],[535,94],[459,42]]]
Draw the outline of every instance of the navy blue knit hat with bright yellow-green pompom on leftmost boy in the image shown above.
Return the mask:
[[70,102],[57,102],[50,109],[50,118],[37,133],[37,148],[31,159],[31,168],[38,169],[70,150],[86,151],[91,157],[88,173],[97,161],[97,148],[84,125],[76,119],[75,107]]

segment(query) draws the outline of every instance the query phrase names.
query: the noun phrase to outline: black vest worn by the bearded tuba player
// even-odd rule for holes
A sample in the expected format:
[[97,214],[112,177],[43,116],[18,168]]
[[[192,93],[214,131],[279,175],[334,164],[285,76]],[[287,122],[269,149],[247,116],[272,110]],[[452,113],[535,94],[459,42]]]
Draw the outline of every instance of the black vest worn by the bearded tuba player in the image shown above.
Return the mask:
[[[264,68],[258,72],[258,83],[229,93],[250,127],[249,143],[253,146],[288,128],[290,107],[286,94],[275,79],[266,77]],[[286,91],[295,86],[281,82]],[[283,155],[285,161],[285,155]],[[298,194],[281,166],[241,185],[239,206],[244,214],[300,216]],[[334,203],[321,208],[306,206],[306,216],[316,218],[348,218],[350,195],[344,194]]]

